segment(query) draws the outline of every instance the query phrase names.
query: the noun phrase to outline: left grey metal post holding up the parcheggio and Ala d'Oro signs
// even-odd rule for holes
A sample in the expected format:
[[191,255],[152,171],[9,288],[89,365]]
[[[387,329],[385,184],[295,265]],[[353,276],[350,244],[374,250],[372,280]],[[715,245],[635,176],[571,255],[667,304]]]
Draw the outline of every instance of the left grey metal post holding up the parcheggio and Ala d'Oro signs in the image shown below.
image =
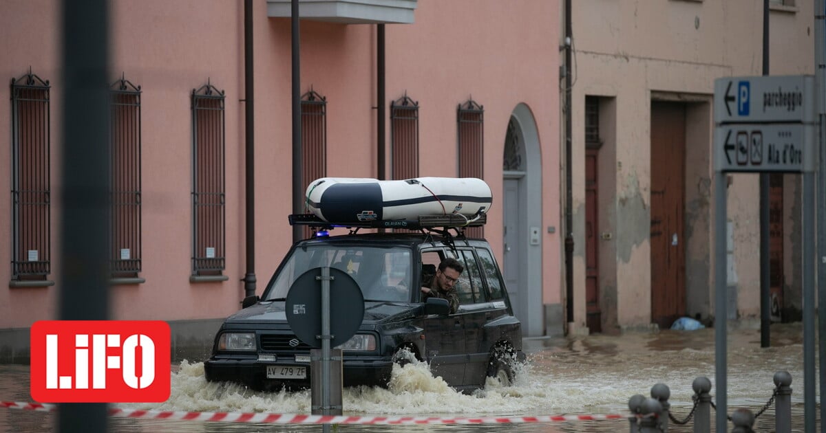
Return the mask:
[[726,306],[729,304],[726,288],[728,259],[726,257],[726,203],[728,186],[726,174],[714,172],[714,388],[716,388],[718,433],[728,431],[726,408]]

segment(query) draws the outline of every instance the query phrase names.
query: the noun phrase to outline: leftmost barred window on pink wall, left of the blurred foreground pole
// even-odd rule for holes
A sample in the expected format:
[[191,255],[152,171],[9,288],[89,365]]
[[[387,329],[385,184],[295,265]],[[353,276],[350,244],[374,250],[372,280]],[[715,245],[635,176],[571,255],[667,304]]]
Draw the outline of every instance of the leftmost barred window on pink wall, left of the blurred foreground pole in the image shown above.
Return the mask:
[[50,85],[12,78],[12,281],[50,285]]

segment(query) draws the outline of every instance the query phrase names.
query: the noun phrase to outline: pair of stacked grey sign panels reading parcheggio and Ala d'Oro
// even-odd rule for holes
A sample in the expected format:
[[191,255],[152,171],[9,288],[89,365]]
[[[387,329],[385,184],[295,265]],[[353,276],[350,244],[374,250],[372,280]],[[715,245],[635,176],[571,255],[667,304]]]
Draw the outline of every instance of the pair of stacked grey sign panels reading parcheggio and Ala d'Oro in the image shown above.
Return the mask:
[[714,81],[714,170],[812,172],[814,77],[727,77]]

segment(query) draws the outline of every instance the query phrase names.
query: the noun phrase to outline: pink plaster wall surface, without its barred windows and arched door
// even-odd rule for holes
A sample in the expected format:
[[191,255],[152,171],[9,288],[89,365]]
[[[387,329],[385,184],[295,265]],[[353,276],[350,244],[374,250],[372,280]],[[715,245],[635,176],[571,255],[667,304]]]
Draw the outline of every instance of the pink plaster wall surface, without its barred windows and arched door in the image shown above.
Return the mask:
[[[51,191],[61,186],[59,2],[9,0],[0,16],[0,76],[28,72],[51,85]],[[121,0],[111,3],[112,82],[139,85],[143,269],[145,283],[111,289],[111,317],[208,323],[240,307],[244,296],[244,8],[225,0]],[[269,18],[254,2],[255,274],[265,287],[292,243],[291,22]],[[485,109],[484,177],[494,196],[486,236],[501,261],[502,152],[510,114],[525,104],[538,127],[543,170],[542,222],[559,227],[558,2],[420,0],[415,23],[387,25],[387,101],[407,93],[420,104],[420,176],[456,176],[456,107],[472,97]],[[301,21],[301,92],[327,98],[327,175],[377,176],[376,27]],[[226,268],[228,280],[189,280],[192,237],[190,96],[207,82],[225,92]],[[10,87],[0,87],[9,101]],[[10,146],[10,106],[0,104],[0,137]],[[390,123],[387,120],[387,145]],[[10,152],[7,150],[7,152]],[[10,158],[0,172],[10,173]],[[389,167],[389,164],[388,164]],[[10,175],[0,186],[10,190]],[[496,206],[500,206],[497,208]],[[0,262],[11,261],[11,204],[0,200]],[[55,285],[0,290],[0,329],[17,335],[56,318],[61,286],[59,215],[51,206]],[[531,290],[561,304],[560,239],[543,230]],[[0,280],[10,280],[9,266]],[[182,325],[183,326],[183,325]],[[561,329],[561,323],[553,324]],[[17,330],[17,331],[16,331]],[[11,333],[9,333],[11,332]],[[17,332],[15,334],[14,332]],[[186,338],[191,337],[188,328]],[[14,338],[3,338],[11,341]],[[7,343],[3,342],[3,348]]]

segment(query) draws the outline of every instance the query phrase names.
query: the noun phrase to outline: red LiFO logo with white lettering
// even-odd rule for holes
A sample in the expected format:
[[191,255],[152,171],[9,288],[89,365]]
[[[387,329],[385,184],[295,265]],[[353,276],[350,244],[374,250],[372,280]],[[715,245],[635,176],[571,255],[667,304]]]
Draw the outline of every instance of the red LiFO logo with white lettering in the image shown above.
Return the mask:
[[169,324],[43,320],[31,327],[37,402],[165,402]]

